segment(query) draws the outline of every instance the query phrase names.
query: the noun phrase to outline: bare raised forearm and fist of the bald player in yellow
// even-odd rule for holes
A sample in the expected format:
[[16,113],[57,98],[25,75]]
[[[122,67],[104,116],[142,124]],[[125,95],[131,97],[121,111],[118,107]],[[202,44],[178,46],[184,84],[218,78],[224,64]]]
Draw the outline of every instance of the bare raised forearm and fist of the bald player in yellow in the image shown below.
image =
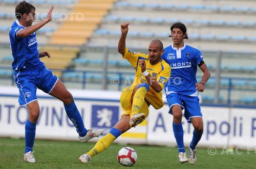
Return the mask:
[[121,24],[121,37],[119,39],[118,42],[118,52],[121,53],[122,55],[125,54],[125,39],[126,39],[126,35],[128,33],[128,25],[130,23],[129,22],[125,22],[123,24]]

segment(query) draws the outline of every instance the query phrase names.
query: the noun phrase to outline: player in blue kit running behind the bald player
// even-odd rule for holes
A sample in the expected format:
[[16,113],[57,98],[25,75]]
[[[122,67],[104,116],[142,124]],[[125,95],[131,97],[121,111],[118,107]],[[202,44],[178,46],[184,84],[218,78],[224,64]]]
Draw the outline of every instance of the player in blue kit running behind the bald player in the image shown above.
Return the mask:
[[[210,71],[203,61],[203,54],[196,48],[184,43],[188,39],[186,26],[177,22],[170,27],[173,44],[164,49],[162,59],[172,68],[172,74],[165,85],[169,113],[173,115],[173,130],[176,138],[179,161],[196,163],[196,146],[203,133],[202,112],[198,92],[204,91],[204,86],[210,77]],[[197,67],[203,72],[200,82],[197,82]],[[188,123],[194,126],[193,138],[189,145],[187,158],[183,143],[183,128],[181,124],[182,109]]]

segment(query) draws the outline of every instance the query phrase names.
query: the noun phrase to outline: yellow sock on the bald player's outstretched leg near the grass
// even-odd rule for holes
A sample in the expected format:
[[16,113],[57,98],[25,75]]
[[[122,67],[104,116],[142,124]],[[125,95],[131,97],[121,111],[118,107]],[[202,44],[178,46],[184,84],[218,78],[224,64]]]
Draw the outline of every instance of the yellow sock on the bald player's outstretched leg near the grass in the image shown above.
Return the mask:
[[114,142],[115,139],[116,137],[111,133],[106,134],[104,137],[100,138],[96,145],[92,148],[92,150],[90,150],[86,154],[89,154],[91,157],[93,157],[94,155],[107,149]]

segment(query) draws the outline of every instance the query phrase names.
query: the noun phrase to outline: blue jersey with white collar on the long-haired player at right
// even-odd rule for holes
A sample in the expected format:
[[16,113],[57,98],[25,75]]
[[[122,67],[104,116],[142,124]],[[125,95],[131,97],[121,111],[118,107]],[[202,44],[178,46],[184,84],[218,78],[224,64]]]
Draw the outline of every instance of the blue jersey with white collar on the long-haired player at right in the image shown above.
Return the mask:
[[202,53],[186,44],[179,49],[171,45],[164,48],[162,59],[172,68],[170,78],[165,85],[165,94],[198,96],[196,73],[197,65],[203,60]]

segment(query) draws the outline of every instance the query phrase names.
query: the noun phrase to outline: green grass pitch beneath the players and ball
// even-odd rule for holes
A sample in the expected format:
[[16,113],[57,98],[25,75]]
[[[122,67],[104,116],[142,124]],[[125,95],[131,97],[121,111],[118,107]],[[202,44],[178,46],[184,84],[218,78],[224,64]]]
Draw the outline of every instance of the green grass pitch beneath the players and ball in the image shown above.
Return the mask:
[[[0,168],[127,168],[117,161],[122,147],[132,147],[138,155],[132,168],[256,168],[256,151],[239,151],[242,154],[209,155],[207,149],[198,148],[197,163],[179,163],[177,148],[113,144],[94,156],[89,163],[81,163],[79,156],[95,143],[82,144],[52,140],[35,140],[36,163],[24,161],[24,139],[0,138]],[[186,148],[187,150],[187,148]],[[188,150],[187,150],[188,151]]]

